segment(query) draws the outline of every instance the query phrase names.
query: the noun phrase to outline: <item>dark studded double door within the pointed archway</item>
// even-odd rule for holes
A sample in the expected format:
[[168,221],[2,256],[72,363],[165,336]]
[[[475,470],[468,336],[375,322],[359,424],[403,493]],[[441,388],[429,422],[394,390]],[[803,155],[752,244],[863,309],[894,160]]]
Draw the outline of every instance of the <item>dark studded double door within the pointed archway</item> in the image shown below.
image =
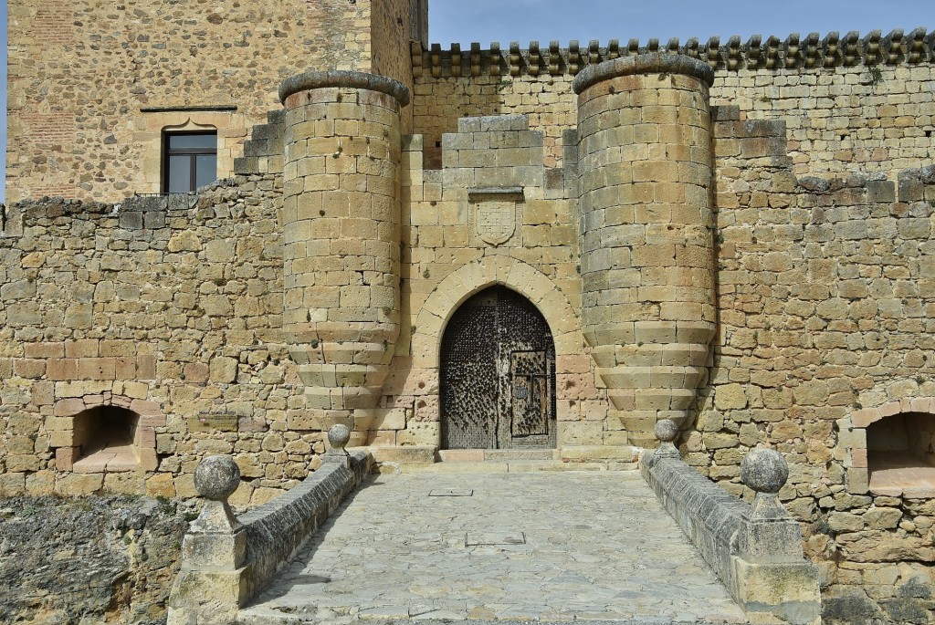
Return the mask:
[[555,447],[555,346],[529,300],[496,286],[468,299],[441,339],[441,447]]

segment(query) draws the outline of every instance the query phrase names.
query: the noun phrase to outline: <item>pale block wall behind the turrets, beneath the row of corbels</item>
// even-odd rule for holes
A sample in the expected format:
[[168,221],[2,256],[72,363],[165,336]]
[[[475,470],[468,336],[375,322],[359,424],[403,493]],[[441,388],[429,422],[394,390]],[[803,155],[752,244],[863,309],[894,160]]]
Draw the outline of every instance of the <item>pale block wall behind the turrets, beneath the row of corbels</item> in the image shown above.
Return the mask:
[[[546,163],[561,164],[562,131],[576,123],[572,78],[589,64],[634,53],[632,42],[629,52],[609,48],[582,46],[577,59],[556,48],[554,61],[544,48],[536,50],[538,59],[530,49],[433,48],[414,55],[415,127],[424,134],[427,166],[439,166],[441,135],[454,132],[459,117],[498,114],[529,115],[530,128],[545,135]],[[637,42],[636,50],[650,49]],[[807,63],[799,50],[795,63],[779,59],[769,69],[715,50],[715,57],[703,55],[714,68],[711,103],[739,106],[750,120],[785,121],[796,174],[894,178],[935,148],[935,67],[927,63],[928,49],[912,56],[908,44],[885,59],[867,60],[859,50],[846,63],[828,63],[823,52]]]

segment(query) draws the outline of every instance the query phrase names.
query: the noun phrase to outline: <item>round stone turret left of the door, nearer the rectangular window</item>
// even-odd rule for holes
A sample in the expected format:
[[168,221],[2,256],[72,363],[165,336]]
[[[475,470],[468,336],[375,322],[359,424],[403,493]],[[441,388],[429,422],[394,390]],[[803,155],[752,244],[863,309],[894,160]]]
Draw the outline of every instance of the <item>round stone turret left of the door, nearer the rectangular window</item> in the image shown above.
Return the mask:
[[399,334],[400,109],[392,78],[283,81],[283,331],[327,428],[376,405]]

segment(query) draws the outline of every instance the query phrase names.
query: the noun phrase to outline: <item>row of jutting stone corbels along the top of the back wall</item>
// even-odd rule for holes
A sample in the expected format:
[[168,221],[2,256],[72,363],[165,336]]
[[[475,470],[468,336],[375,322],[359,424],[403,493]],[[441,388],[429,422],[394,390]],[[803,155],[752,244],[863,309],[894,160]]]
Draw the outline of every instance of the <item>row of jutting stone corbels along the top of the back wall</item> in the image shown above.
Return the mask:
[[440,44],[432,44],[428,49],[419,42],[411,44],[414,78],[576,76],[588,65],[653,52],[683,54],[711,65],[714,70],[728,72],[922,64],[935,60],[935,31],[919,27],[910,33],[897,29],[884,35],[883,31],[874,30],[861,36],[851,31],[844,36],[832,32],[824,37],[818,33],[804,37],[793,33],[784,39],[755,35],[746,42],[736,35],[726,41],[712,36],[706,42],[692,37],[684,43],[678,37],[668,42],[653,38],[645,44],[636,38],[625,44],[611,39],[606,46],[601,46],[597,39],[587,45],[572,39],[567,48],[559,41],[548,45],[530,41],[526,48],[520,48],[517,41],[506,48],[494,42],[486,50],[482,50],[480,43],[472,43],[465,50],[456,43],[448,49],[442,49]]

